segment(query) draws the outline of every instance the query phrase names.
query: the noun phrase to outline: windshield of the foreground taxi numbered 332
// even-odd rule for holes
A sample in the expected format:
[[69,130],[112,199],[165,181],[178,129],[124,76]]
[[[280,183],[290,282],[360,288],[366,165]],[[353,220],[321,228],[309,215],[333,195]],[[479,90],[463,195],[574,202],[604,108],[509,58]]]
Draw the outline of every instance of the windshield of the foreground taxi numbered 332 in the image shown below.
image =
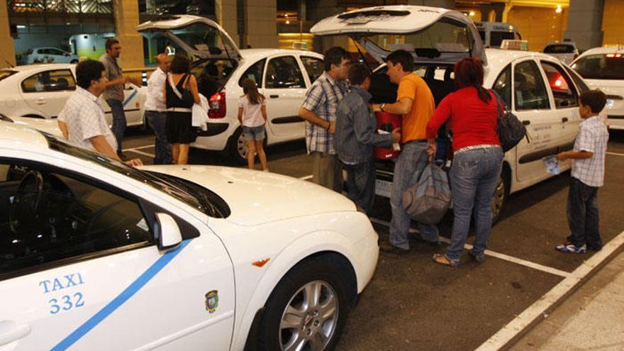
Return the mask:
[[165,174],[156,172],[145,172],[135,167],[130,167],[123,162],[111,160],[104,155],[91,150],[83,149],[70,145],[65,141],[57,139],[55,136],[41,132],[48,140],[50,149],[62,152],[82,160],[94,162],[96,165],[110,169],[126,177],[137,180],[143,184],[147,184],[154,189],[164,192],[175,199],[184,202],[196,208],[208,216],[216,218],[225,218],[229,216],[229,208],[225,201],[214,194],[212,191],[192,182],[177,177],[169,177]]

